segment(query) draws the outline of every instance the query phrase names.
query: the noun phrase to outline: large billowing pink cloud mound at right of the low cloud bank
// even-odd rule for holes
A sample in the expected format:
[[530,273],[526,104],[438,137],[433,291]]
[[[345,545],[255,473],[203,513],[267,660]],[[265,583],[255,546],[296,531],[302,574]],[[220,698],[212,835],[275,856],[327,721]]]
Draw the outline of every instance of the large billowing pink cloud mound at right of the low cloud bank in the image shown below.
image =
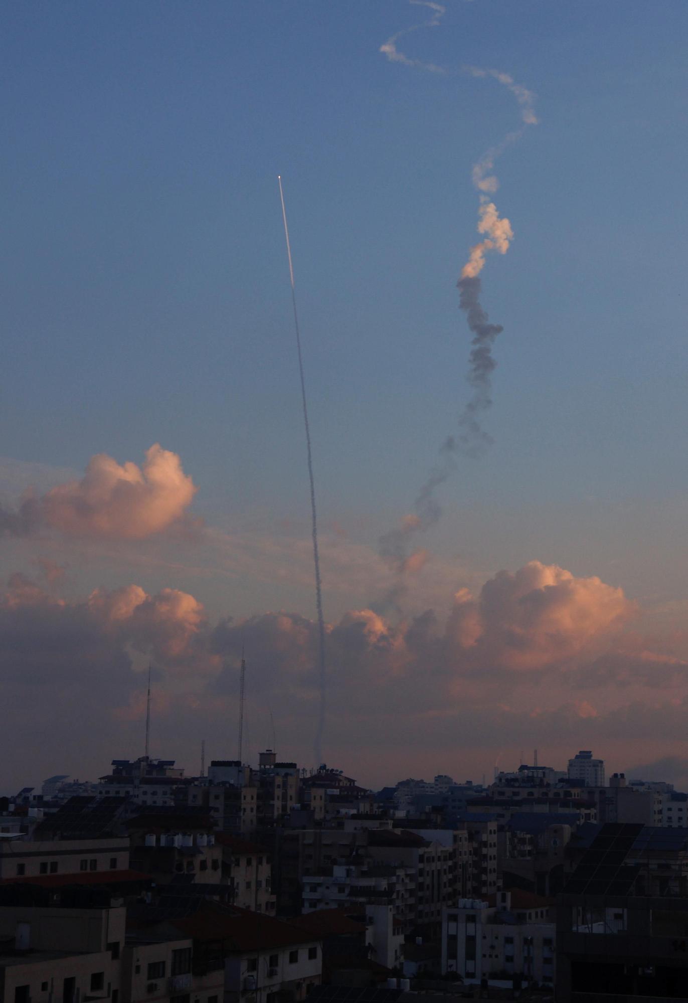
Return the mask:
[[476,600],[459,594],[448,631],[478,663],[528,671],[568,661],[634,611],[622,589],[532,561],[499,572]]

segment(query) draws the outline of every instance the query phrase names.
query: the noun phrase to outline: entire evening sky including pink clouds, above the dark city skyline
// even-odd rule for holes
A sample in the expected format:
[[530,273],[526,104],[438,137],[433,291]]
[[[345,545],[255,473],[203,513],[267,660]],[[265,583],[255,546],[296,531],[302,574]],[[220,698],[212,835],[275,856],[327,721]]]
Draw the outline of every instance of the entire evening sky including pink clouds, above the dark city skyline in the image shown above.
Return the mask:
[[315,765],[278,174],[323,757],[688,784],[688,8],[444,7],[3,6],[1,790],[142,754],[148,664],[151,754],[233,757],[242,645],[248,756]]

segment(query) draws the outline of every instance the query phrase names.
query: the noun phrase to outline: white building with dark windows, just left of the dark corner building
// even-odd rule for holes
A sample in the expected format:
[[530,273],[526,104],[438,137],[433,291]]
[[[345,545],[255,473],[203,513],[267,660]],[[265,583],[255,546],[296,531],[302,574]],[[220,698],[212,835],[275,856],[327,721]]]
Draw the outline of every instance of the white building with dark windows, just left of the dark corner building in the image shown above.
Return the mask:
[[495,905],[460,899],[442,917],[442,974],[554,985],[556,929],[551,900],[532,892],[498,892]]

